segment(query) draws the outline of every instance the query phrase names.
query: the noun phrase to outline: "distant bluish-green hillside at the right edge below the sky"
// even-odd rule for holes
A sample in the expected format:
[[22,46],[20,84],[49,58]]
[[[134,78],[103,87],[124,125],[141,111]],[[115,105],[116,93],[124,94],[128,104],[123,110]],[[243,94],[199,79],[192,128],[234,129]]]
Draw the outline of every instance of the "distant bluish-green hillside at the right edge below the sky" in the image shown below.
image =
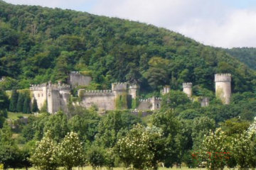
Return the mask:
[[230,55],[236,57],[240,62],[244,62],[251,69],[256,69],[256,48],[242,47],[226,49]]

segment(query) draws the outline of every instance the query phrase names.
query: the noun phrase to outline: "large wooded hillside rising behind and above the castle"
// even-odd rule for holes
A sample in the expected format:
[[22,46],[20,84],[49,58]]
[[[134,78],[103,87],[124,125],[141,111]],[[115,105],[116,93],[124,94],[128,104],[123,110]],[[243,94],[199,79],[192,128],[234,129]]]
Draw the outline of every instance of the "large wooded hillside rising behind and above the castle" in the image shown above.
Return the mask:
[[0,1],[0,30],[0,76],[18,88],[65,81],[70,71],[92,74],[92,89],[129,81],[149,92],[191,81],[213,90],[215,73],[233,74],[234,92],[256,84],[255,71],[224,50],[145,23]]

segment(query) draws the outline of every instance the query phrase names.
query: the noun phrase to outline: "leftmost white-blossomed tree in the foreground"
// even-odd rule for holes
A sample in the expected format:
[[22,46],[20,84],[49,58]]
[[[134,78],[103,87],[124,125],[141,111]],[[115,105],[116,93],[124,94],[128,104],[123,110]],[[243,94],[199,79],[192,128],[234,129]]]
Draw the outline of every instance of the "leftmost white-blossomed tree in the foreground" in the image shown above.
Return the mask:
[[55,170],[58,167],[56,143],[50,137],[50,131],[40,142],[36,143],[36,149],[32,152],[30,161],[38,169]]

